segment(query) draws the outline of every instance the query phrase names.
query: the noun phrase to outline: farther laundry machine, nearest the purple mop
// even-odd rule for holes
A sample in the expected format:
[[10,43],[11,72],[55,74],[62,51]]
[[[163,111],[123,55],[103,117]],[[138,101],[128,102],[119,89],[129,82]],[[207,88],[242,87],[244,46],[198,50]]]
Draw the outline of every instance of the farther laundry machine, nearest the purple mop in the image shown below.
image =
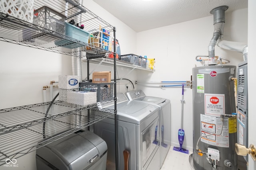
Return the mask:
[[170,100],[152,96],[146,96],[142,90],[126,92],[129,100],[154,104],[159,107],[160,127],[160,167],[171,145],[171,104]]

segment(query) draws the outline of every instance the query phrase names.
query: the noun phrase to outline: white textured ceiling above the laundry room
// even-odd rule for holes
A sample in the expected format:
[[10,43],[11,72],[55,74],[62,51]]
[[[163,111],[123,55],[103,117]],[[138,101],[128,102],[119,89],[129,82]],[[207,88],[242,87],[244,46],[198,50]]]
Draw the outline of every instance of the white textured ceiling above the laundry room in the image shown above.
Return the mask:
[[210,10],[248,8],[248,0],[93,0],[134,31],[140,32],[210,16]]

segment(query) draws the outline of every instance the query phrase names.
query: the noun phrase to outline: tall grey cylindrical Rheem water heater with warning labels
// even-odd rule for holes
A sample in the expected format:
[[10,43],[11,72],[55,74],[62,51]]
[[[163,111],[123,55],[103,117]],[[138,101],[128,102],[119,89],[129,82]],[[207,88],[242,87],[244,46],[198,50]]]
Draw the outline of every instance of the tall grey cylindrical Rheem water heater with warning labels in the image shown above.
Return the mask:
[[193,163],[196,170],[237,170],[236,66],[192,69]]

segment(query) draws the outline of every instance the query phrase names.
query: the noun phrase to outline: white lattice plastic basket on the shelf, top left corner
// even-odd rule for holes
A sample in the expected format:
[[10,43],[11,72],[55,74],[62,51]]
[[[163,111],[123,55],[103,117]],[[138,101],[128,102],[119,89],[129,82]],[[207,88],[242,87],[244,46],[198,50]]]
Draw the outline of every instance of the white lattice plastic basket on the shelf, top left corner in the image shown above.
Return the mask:
[[1,0],[0,12],[33,23],[34,0]]

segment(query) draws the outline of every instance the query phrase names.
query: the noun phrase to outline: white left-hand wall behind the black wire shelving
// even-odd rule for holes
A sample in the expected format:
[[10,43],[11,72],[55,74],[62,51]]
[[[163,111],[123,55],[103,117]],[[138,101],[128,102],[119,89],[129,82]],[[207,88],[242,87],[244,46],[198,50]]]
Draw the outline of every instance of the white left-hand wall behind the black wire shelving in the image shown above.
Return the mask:
[[[92,0],[84,1],[84,6],[118,28],[116,35],[120,41],[122,53],[135,53],[136,33],[130,27],[110,15]],[[0,47],[0,109],[41,103],[43,102],[43,86],[49,85],[51,80],[58,81],[58,75],[72,74],[70,56],[3,41],[0,41]],[[83,79],[87,76],[86,67],[87,64],[82,63]],[[92,64],[90,70],[94,67],[96,65]],[[113,68],[108,66],[100,66],[95,71],[101,70],[113,72]],[[127,72],[126,69],[118,68],[119,77],[122,78],[125,72]],[[136,77],[136,72],[130,74],[128,78],[134,79],[134,77]],[[112,76],[112,78],[114,77]],[[121,83],[123,87],[125,83],[127,82]],[[47,89],[47,93],[49,95],[49,89]],[[58,89],[55,89],[54,96],[57,93]],[[49,96],[47,100],[50,101]],[[35,152],[18,158],[17,164],[19,170],[35,170]],[[4,169],[8,168],[0,166],[0,170]]]

